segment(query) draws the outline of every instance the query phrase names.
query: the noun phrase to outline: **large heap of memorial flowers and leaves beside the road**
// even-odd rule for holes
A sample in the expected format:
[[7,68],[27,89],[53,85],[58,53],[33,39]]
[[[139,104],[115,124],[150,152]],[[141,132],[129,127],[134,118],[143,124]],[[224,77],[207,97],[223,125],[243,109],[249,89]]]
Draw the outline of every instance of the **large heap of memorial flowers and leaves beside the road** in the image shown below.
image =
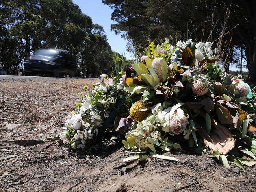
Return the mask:
[[61,135],[89,149],[107,131],[135,155],[178,161],[161,151],[209,150],[231,170],[256,164],[256,94],[218,65],[211,42],[152,42],[141,61],[111,77],[102,74],[82,95]]

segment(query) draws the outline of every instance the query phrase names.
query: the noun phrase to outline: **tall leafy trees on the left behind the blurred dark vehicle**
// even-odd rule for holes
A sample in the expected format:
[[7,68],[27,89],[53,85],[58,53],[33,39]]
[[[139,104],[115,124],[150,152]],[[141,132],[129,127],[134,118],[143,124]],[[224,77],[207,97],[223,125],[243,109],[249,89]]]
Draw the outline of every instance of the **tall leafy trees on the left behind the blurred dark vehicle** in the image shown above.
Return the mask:
[[2,0],[0,69],[18,74],[22,59],[38,48],[72,52],[78,74],[84,76],[110,73],[113,65],[103,27],[93,24],[72,0]]

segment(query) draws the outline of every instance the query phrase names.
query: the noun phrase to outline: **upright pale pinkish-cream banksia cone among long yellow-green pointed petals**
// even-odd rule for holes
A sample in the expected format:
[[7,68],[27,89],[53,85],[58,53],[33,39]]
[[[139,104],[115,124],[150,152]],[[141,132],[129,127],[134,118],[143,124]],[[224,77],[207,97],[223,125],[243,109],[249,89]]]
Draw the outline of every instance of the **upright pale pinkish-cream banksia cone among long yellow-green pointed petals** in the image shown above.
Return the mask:
[[[156,72],[160,82],[164,82],[167,80],[168,67],[167,67],[167,63],[166,63],[165,59],[163,59],[161,57],[154,59],[151,67]],[[152,78],[154,78],[154,76]],[[156,78],[154,78],[154,79],[156,79]],[[160,82],[158,82],[158,83],[160,83]]]

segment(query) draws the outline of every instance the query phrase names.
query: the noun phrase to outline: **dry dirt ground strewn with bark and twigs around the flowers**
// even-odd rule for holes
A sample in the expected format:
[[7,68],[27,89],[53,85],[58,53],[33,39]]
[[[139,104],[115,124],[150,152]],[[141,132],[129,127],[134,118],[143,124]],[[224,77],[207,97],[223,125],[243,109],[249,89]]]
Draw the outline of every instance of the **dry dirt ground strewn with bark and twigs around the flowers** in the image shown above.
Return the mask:
[[[124,163],[132,154],[120,142],[102,142],[80,153],[47,142],[75,110],[77,93],[85,94],[83,86],[95,81],[0,77],[0,192],[256,191],[255,166],[246,167],[246,177],[231,163],[233,172],[204,153],[171,151],[165,155],[180,161]],[[34,140],[45,143],[34,148]]]

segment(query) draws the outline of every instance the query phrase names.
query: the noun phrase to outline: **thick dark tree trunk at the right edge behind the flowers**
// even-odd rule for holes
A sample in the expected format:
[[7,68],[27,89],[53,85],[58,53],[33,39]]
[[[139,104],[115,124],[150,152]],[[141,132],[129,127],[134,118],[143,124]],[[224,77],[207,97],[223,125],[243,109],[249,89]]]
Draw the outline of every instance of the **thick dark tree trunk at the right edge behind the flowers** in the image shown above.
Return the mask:
[[249,71],[250,81],[256,82],[256,37],[254,41],[251,41],[247,48],[245,49],[247,68]]

